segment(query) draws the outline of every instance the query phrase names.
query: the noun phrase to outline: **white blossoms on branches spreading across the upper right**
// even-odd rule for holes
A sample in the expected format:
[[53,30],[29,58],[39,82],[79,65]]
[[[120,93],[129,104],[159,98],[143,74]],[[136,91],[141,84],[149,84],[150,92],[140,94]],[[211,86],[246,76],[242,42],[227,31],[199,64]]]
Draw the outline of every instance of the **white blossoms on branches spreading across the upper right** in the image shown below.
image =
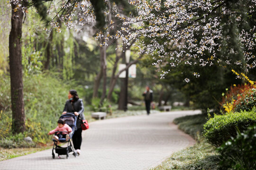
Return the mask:
[[[145,51],[155,59],[153,65],[256,67],[256,26],[250,24],[256,0],[129,0],[129,4],[137,15],[116,14],[121,29],[108,37],[98,34],[97,39],[121,39],[123,45],[136,40],[140,53]],[[168,71],[161,76],[165,74]]]

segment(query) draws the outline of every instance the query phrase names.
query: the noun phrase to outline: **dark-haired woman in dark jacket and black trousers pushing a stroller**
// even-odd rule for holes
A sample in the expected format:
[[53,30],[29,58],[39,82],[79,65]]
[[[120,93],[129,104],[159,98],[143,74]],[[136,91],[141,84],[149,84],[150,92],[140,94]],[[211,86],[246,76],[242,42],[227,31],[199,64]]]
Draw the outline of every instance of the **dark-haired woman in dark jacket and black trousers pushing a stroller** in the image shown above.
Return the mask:
[[75,130],[72,137],[74,149],[78,154],[81,153],[80,147],[82,143],[82,128],[79,118],[84,120],[83,110],[84,108],[82,104],[82,99],[79,99],[78,94],[75,90],[70,90],[68,92],[68,100],[65,103],[62,114],[66,114],[67,112],[73,112],[76,116],[78,116],[76,121],[77,130]]

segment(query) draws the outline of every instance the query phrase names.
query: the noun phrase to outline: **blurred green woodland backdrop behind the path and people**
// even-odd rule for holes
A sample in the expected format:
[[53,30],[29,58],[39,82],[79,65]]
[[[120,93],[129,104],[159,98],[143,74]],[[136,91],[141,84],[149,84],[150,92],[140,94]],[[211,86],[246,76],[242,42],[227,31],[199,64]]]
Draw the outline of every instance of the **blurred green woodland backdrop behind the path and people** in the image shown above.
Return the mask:
[[[134,10],[127,3],[116,5],[123,15]],[[46,143],[49,140],[46,132],[56,126],[55,121],[63,110],[70,89],[78,91],[88,117],[91,111],[109,112],[110,107],[111,110],[124,109],[124,79],[118,77],[118,66],[125,63],[125,49],[117,49],[118,42],[101,47],[101,40],[95,39],[101,30],[95,23],[84,25],[79,33],[61,22],[58,23],[59,29],[53,29],[35,11],[36,8],[25,11],[22,27],[26,131],[13,137],[9,75],[11,8],[5,0],[0,1],[0,138],[4,139],[1,146],[9,146],[10,141],[23,136],[31,136],[36,143]],[[226,88],[243,82],[227,67],[201,68],[183,63],[175,68],[168,65],[154,67],[154,57],[138,54],[136,47],[128,48],[131,50],[129,64],[137,65],[136,78],[128,80],[128,102],[141,106],[138,107],[141,110],[144,110],[142,93],[146,85],[154,91],[157,106],[183,102],[192,109],[218,111]],[[161,79],[160,70],[169,70],[169,74]],[[184,79],[195,71],[201,76],[192,77],[190,83],[186,83]],[[254,70],[247,76],[255,79]]]

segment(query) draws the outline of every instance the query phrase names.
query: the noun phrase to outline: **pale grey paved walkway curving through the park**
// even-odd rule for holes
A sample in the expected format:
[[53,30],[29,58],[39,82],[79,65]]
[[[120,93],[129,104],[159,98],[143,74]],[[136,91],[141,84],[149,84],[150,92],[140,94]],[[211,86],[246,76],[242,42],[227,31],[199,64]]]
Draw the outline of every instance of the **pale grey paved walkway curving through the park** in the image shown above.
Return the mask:
[[52,159],[50,149],[0,161],[0,170],[146,170],[195,143],[172,121],[196,113],[161,112],[95,121],[83,132],[80,156]]

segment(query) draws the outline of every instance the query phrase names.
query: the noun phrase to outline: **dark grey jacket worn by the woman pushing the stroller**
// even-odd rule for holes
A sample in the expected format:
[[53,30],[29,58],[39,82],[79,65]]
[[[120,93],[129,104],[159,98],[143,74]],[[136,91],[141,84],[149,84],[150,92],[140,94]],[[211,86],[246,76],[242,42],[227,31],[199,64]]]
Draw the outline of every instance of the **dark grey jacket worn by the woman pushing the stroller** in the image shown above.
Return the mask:
[[66,111],[66,112],[78,112],[79,116],[77,118],[77,121],[76,121],[76,127],[77,128],[81,128],[81,122],[79,120],[79,117],[84,120],[84,115],[83,115],[83,110],[84,110],[84,107],[83,107],[83,104],[82,104],[82,99],[78,99],[77,101],[74,101],[73,102],[73,106],[72,106],[72,103],[70,100],[67,100],[66,103],[65,103],[65,106],[64,106],[64,110],[63,111]]

